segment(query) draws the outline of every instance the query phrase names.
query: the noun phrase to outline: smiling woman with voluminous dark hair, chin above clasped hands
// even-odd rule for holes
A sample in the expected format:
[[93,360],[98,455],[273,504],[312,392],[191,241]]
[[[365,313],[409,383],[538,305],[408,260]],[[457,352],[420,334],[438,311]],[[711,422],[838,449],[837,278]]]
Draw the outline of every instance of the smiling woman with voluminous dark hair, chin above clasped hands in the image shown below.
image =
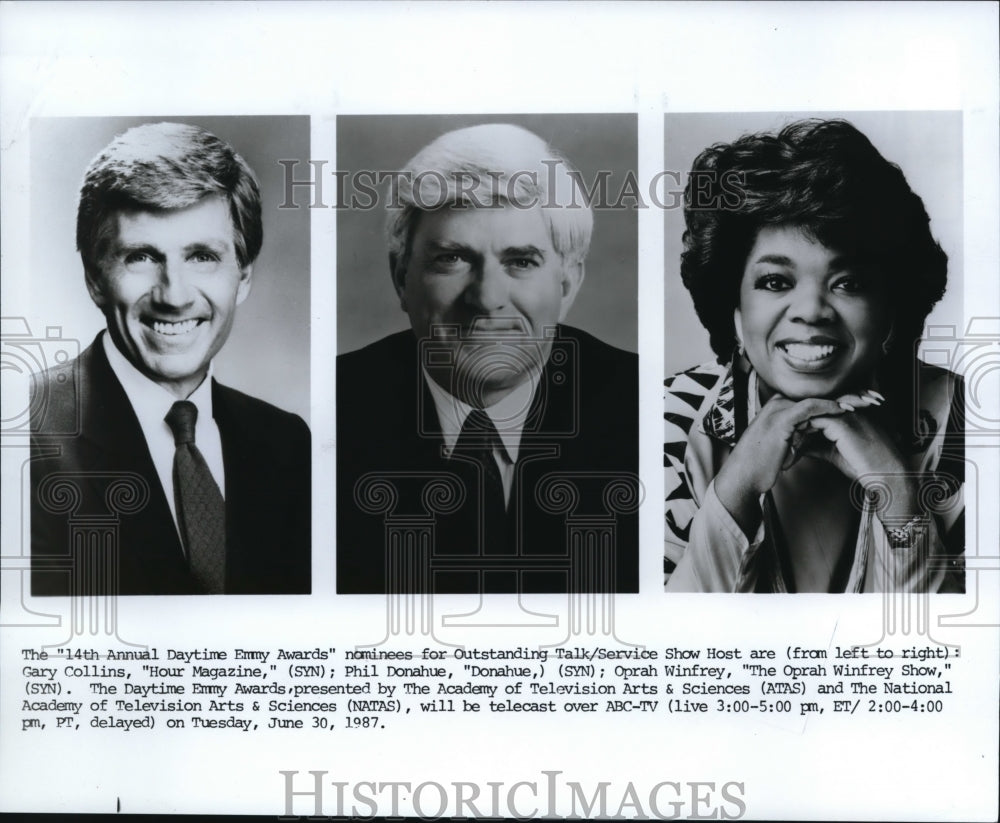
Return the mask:
[[667,589],[961,591],[962,384],[915,356],[947,257],[903,173],[801,121],[704,150],[684,217],[718,362],[666,381]]

